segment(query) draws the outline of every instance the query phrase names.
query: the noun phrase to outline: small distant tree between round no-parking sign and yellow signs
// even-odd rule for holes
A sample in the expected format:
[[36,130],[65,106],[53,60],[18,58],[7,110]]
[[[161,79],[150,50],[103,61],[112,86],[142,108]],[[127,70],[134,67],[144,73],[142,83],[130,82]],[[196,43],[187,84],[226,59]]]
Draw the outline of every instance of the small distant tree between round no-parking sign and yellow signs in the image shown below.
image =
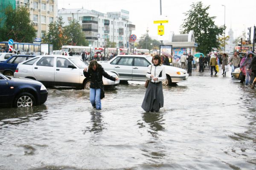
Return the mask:
[[[152,44],[152,45],[151,45]],[[160,42],[158,40],[153,40],[148,34],[143,34],[140,37],[140,41],[137,44],[137,48],[139,49],[159,49]]]

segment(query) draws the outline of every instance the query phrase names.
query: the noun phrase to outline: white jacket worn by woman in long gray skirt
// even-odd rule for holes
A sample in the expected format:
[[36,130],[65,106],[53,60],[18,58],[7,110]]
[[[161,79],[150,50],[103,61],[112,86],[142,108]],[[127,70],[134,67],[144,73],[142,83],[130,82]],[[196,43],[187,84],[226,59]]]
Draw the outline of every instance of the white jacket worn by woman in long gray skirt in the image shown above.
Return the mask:
[[[160,72],[162,72],[162,76],[161,77],[159,77]],[[151,79],[151,81],[153,83],[158,83],[160,81],[164,81],[166,79],[166,73],[165,73],[164,65],[154,66],[152,64],[152,65],[148,66],[148,72],[146,74],[146,77],[150,78],[150,75],[154,75],[154,77],[158,78],[157,81],[154,81],[153,79]]]

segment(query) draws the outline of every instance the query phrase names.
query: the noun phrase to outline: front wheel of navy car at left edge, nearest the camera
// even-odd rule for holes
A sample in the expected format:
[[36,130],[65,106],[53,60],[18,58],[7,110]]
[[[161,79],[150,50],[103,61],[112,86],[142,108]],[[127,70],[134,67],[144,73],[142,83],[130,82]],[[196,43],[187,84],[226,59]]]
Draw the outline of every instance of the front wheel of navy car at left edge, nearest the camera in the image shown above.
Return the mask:
[[35,105],[35,97],[27,92],[20,93],[15,97],[14,107],[32,107]]

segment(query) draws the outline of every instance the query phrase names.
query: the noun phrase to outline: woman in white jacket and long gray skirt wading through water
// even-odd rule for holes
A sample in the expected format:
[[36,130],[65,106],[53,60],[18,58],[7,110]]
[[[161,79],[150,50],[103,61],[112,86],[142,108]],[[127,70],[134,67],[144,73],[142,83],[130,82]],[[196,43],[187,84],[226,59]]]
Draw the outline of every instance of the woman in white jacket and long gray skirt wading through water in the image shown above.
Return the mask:
[[152,63],[148,66],[146,77],[150,81],[141,106],[146,112],[158,112],[163,107],[162,81],[166,79],[166,73],[159,55],[152,58]]

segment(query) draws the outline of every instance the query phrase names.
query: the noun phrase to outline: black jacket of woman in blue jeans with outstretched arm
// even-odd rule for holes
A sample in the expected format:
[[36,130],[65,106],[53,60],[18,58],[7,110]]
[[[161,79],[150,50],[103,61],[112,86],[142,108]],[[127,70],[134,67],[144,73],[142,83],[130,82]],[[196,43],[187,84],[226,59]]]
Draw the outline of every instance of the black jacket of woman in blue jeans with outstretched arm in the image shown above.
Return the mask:
[[101,65],[99,65],[99,68],[95,71],[90,69],[87,70],[87,72],[84,72],[84,76],[91,80],[90,88],[92,89],[103,88],[102,76],[108,78],[109,80],[116,81],[116,78],[112,77],[111,75],[108,75],[108,73],[105,72]]

